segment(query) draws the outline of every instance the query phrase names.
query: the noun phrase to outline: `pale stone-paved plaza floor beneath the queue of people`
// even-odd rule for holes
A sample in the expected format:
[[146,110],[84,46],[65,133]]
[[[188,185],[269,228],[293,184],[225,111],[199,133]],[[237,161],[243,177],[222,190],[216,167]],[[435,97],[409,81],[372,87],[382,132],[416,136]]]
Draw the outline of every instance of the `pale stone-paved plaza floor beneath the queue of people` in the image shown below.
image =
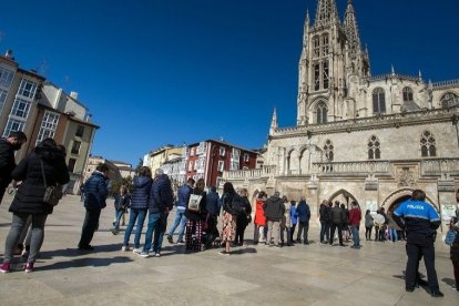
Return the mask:
[[[6,195],[0,206],[1,253],[11,198]],[[113,214],[110,200],[92,241],[95,251],[81,252],[84,208],[79,197],[67,196],[48,217],[35,271],[26,274],[17,264],[0,275],[0,305],[459,305],[440,238],[436,265],[445,297],[432,298],[427,288],[405,292],[405,243],[364,241],[359,251],[320,246],[312,222],[308,246],[253,246],[249,226],[248,245],[231,256],[217,249],[185,254],[164,239],[160,258],[141,258],[120,251],[123,232],[112,235]],[[424,263],[420,271],[426,275]]]

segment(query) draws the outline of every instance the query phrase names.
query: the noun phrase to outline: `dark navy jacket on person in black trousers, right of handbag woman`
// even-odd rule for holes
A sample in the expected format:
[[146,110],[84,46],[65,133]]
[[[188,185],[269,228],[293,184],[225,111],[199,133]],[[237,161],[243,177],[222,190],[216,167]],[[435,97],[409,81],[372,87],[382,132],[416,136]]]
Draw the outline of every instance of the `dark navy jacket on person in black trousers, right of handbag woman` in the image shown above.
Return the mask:
[[106,196],[109,195],[109,180],[99,171],[84,182],[84,207],[88,210],[102,210],[106,206]]

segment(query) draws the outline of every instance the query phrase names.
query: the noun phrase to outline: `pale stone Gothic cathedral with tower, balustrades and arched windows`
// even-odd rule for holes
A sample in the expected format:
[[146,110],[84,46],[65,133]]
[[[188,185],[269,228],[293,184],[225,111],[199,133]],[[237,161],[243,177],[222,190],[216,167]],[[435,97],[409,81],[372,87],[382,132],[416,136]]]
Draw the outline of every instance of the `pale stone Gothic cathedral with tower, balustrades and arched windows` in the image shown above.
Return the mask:
[[459,80],[371,75],[353,1],[341,21],[335,0],[319,0],[304,26],[296,126],[279,128],[274,111],[263,167],[224,180],[253,196],[304,195],[313,211],[323,200],[392,210],[422,188],[446,217],[459,185],[458,121]]

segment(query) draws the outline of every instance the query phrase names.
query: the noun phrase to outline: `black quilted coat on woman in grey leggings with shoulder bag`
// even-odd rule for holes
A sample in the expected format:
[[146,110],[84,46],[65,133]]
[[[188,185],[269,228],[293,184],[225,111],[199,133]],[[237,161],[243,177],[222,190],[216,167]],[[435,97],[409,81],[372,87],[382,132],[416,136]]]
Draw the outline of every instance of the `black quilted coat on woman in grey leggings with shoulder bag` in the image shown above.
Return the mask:
[[[43,164],[43,167],[42,167]],[[70,181],[64,155],[55,146],[38,145],[11,173],[12,178],[22,181],[11,203],[10,212],[28,214],[51,214],[53,207],[43,202],[44,181],[48,186],[67,184]]]

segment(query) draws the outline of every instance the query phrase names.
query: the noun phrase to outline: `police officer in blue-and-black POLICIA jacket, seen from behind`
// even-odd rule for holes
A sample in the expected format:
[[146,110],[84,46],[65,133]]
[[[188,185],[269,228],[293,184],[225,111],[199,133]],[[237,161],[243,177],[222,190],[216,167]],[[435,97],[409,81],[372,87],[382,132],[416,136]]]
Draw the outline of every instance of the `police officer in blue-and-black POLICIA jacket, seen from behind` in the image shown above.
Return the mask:
[[421,190],[415,190],[411,200],[401,203],[394,211],[394,220],[407,232],[406,290],[415,290],[419,261],[420,256],[424,255],[430,295],[434,297],[443,296],[439,289],[437,272],[435,269],[434,247],[436,230],[440,226],[441,221],[437,211],[426,203],[426,193]]

